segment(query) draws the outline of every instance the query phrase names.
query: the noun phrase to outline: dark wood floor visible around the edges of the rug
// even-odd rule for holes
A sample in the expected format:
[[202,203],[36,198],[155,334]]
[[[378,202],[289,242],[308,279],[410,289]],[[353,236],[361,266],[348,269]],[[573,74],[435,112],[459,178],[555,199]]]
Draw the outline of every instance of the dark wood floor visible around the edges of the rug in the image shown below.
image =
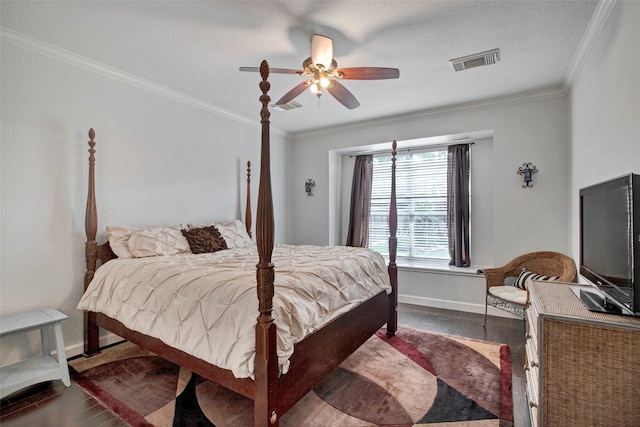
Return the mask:
[[[511,350],[513,412],[516,427],[530,426],[524,384],[524,321],[401,304],[398,323],[418,329],[508,344]],[[119,427],[128,424],[75,383],[52,381],[2,399],[0,424],[23,426]]]

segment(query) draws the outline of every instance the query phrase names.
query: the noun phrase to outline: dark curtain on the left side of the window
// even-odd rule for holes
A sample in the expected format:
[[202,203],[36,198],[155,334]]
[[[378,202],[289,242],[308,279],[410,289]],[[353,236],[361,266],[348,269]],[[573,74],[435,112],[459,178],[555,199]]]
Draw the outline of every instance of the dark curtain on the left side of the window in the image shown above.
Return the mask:
[[369,243],[369,212],[371,206],[371,180],[373,155],[356,156],[351,183],[351,208],[347,246],[366,248]]

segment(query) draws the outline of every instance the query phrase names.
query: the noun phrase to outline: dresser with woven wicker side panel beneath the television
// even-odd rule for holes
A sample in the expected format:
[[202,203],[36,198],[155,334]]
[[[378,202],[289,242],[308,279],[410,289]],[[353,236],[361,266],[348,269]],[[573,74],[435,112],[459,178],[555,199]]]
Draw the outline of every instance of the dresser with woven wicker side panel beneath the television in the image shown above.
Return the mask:
[[640,318],[587,310],[569,283],[533,282],[526,308],[532,426],[640,426]]

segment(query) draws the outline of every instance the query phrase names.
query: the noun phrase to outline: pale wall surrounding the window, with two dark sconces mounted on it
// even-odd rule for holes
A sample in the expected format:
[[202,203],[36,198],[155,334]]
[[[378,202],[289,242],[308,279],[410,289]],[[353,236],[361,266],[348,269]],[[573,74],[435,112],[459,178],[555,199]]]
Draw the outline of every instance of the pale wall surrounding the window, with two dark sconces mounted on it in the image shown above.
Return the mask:
[[[472,182],[473,197],[490,201],[476,209],[481,211],[476,224],[483,228],[477,231],[482,236],[476,242],[478,263],[502,262],[522,252],[543,248],[566,251],[566,102],[561,95],[546,99],[524,97],[517,102],[497,102],[334,133],[297,136],[292,148],[296,165],[293,179],[300,183],[301,190],[308,178],[314,178],[317,186],[314,197],[306,197],[303,191],[292,195],[297,213],[293,220],[295,243],[327,244],[333,232],[331,227],[342,227],[329,221],[336,197],[329,192],[329,182],[335,178],[329,153],[393,139],[402,146],[403,140],[485,130],[493,133],[492,141],[473,147],[478,151],[490,150],[483,156],[490,167],[482,169],[483,174],[490,176],[482,177],[481,185]],[[490,147],[480,147],[483,144]],[[521,177],[516,174],[523,162],[533,162],[540,170],[534,188],[523,189]],[[486,165],[478,168],[481,166]],[[486,228],[492,228],[492,233],[484,234]]]

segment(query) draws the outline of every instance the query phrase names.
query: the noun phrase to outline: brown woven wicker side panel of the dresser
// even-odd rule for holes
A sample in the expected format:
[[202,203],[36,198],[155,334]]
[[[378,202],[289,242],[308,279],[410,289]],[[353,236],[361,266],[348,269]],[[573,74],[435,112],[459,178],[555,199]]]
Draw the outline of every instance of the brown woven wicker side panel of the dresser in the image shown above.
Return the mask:
[[640,425],[640,332],[545,322],[548,426]]

